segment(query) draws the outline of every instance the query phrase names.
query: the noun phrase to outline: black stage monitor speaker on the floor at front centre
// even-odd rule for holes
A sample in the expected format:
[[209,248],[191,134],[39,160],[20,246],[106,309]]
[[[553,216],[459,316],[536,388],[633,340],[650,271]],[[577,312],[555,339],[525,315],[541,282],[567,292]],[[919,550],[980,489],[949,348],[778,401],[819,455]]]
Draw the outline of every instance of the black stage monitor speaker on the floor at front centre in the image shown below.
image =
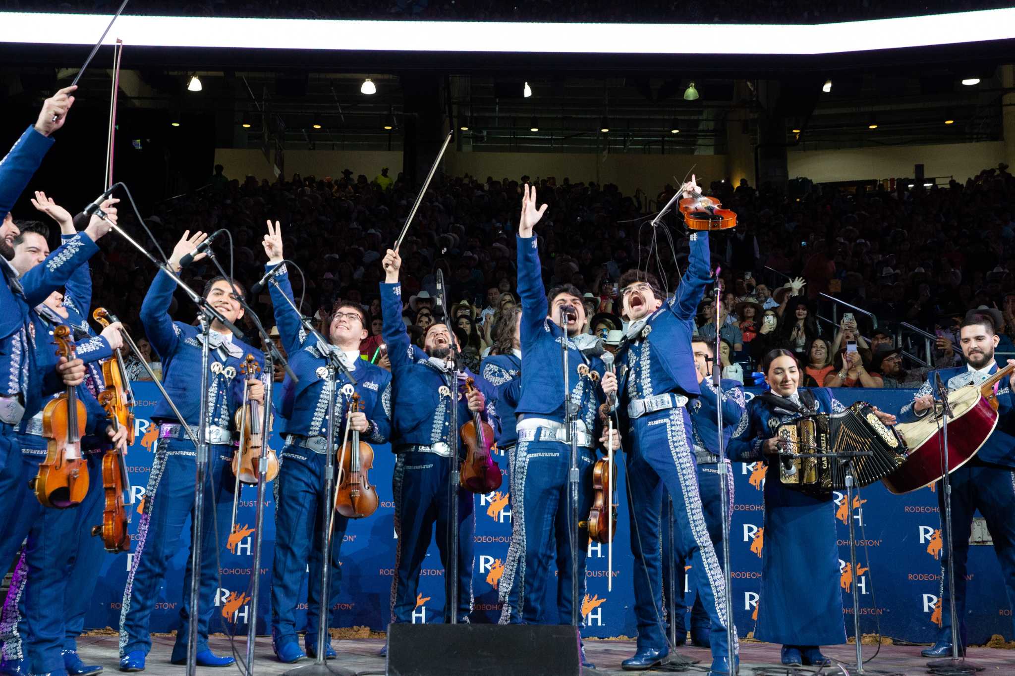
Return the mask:
[[567,624],[391,624],[388,676],[581,676]]

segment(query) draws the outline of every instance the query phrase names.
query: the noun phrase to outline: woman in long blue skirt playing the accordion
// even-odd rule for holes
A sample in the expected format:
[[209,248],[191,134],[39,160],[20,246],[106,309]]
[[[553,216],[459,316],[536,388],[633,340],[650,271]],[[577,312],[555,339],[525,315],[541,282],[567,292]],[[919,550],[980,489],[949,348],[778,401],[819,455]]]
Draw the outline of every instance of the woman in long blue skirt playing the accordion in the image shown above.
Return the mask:
[[[838,543],[832,494],[784,485],[780,451],[793,452],[775,436],[780,425],[802,416],[835,414],[842,404],[826,387],[799,389],[797,358],[788,350],[764,356],[769,391],[747,405],[747,428],[730,443],[730,457],[768,465],[764,481],[764,546],[755,637],[783,644],[785,665],[822,667],[831,660],[820,646],[844,644]],[[894,416],[875,409],[886,424]],[[806,566],[801,565],[806,561]]]

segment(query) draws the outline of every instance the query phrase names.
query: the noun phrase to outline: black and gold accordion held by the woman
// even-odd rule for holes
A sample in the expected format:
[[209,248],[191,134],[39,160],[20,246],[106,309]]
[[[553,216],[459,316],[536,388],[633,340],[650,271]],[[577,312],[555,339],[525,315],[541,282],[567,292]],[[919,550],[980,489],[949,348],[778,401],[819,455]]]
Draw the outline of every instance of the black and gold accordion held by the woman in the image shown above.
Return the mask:
[[865,486],[887,476],[906,459],[905,442],[866,401],[838,414],[785,423],[775,435],[786,440],[786,452],[799,455],[782,458],[780,481],[809,493],[844,490],[847,463],[852,465],[855,483]]

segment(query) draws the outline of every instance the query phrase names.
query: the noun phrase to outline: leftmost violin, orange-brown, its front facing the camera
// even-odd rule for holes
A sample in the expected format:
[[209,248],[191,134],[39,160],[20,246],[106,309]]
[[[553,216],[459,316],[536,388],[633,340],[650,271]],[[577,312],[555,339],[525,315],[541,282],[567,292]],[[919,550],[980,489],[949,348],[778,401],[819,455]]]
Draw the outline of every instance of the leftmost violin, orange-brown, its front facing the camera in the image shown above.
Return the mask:
[[[74,359],[70,326],[60,324],[53,331],[57,356]],[[88,424],[84,403],[77,389],[68,386],[63,394],[50,399],[43,408],[43,436],[46,459],[28,482],[44,507],[77,507],[88,493],[88,467],[81,457],[81,437]]]

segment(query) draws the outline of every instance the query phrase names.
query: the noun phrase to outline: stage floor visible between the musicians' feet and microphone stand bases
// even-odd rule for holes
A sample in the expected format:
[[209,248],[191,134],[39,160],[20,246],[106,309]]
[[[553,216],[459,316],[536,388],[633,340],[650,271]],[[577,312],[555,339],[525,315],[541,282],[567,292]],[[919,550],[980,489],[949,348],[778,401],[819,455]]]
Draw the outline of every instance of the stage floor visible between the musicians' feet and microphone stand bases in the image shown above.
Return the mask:
[[[173,650],[174,637],[172,635],[152,636],[152,650],[148,655],[147,669],[148,676],[181,676],[184,674],[183,667],[170,664],[170,653]],[[355,671],[357,674],[384,674],[384,658],[378,657],[378,651],[384,646],[383,639],[358,639],[358,640],[333,640],[332,645],[339,653],[337,665]],[[589,659],[596,664],[595,671],[588,671],[589,676],[599,674],[626,674],[630,672],[621,671],[620,662],[630,657],[634,653],[634,642],[632,641],[586,641],[586,653]],[[218,655],[229,654],[228,641],[221,636],[212,636],[212,650]],[[865,659],[874,655],[876,646],[864,646]],[[91,635],[83,636],[78,642],[78,649],[81,659],[85,664],[100,664],[106,668],[107,673],[118,673],[119,663],[117,636],[113,635]],[[246,654],[246,644],[243,640],[238,640],[236,649]],[[872,662],[865,665],[866,671],[894,673],[894,674],[926,674],[927,660],[920,657],[921,646],[882,646],[881,653]],[[702,673],[707,669],[712,661],[712,656],[707,650],[693,647],[684,647],[679,651],[680,655],[690,660],[699,660],[696,667],[692,667],[686,673]],[[849,663],[855,659],[856,651],[852,646],[838,646],[829,648],[824,653],[835,660]],[[304,660],[297,665],[281,664],[275,659],[271,650],[271,640],[267,636],[259,637],[257,641],[257,651],[255,654],[256,663],[254,671],[256,674],[275,676],[282,674],[294,666],[310,664]],[[771,644],[741,643],[740,645],[742,676],[754,674],[754,670],[760,667],[776,667],[779,665],[779,646]],[[1015,651],[995,650],[990,648],[971,648],[968,652],[969,662],[984,667],[985,676],[990,674],[1015,674]],[[336,664],[332,662],[331,664]],[[782,668],[782,673],[787,673],[786,668]],[[234,674],[239,670],[235,666],[224,669],[201,669],[199,673],[211,676],[227,676]],[[807,667],[798,668],[797,673],[813,673],[815,670]],[[780,673],[777,671],[765,672],[766,674]],[[837,669],[825,669],[823,674],[840,674]],[[850,670],[849,673],[856,673]]]

